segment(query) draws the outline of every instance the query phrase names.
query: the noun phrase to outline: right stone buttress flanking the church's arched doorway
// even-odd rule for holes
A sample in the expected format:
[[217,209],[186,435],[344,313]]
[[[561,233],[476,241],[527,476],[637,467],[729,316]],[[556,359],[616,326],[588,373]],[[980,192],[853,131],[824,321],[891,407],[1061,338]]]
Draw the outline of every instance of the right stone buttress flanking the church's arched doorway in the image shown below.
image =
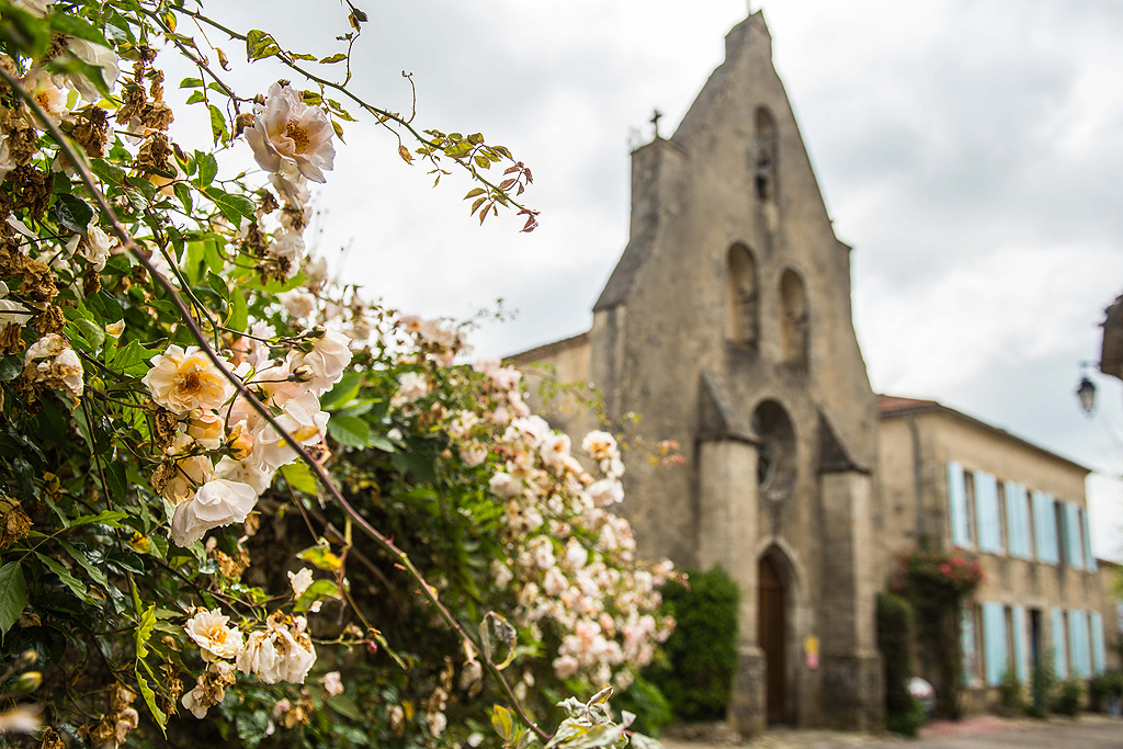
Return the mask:
[[823,707],[832,723],[876,729],[885,721],[882,657],[877,650],[877,595],[868,473],[822,473]]

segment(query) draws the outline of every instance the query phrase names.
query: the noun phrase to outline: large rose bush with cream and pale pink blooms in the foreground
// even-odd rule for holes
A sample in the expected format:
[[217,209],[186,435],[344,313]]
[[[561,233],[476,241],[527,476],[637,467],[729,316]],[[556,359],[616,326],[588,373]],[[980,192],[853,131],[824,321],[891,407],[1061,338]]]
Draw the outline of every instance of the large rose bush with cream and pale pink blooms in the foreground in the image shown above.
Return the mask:
[[[316,57],[180,2],[0,0],[4,742],[629,741],[602,687],[669,634],[673,570],[611,510],[615,438],[575,450],[466,326],[383,309],[304,243],[355,120],[330,95],[462,167],[481,222],[537,226],[505,148],[348,90],[345,13]],[[201,76],[210,147],[171,129],[165,55]]]

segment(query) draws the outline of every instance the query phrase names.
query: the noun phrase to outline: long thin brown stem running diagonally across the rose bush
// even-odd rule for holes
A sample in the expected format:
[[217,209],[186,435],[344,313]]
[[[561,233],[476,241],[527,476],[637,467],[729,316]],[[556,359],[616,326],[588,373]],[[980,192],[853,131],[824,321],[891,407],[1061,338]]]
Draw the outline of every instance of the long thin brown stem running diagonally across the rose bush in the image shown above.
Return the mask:
[[[285,444],[289,447],[291,447],[296,453],[296,455],[308,465],[309,469],[311,469],[311,472],[316,474],[316,477],[320,479],[320,483],[323,484],[325,488],[327,488],[328,493],[336,501],[336,503],[344,510],[344,512],[347,513],[348,517],[350,517],[350,519],[360,529],[363,529],[363,532],[366,533],[368,537],[371,537],[371,539],[373,539],[378,546],[381,546],[383,550],[385,550],[390,556],[392,556],[402,566],[402,568],[404,568],[410,574],[410,576],[413,577],[413,579],[420,586],[421,591],[424,593],[424,596],[429,599],[429,602],[440,614],[440,618],[445,620],[445,623],[448,624],[460,637],[462,640],[467,641],[476,649],[477,652],[482,654],[483,649],[480,647],[480,643],[476,642],[472,638],[472,636],[467,633],[467,631],[465,631],[464,627],[462,627],[460,623],[456,620],[456,618],[453,616],[451,612],[445,606],[444,603],[441,603],[438,600],[437,588],[435,588],[426,581],[424,576],[413,565],[413,561],[410,560],[409,556],[407,556],[404,551],[398,548],[398,546],[395,546],[394,542],[391,541],[386,536],[384,536],[376,528],[374,528],[374,526],[367,522],[366,518],[359,514],[359,512],[351,505],[350,502],[347,501],[347,499],[336,487],[335,483],[331,481],[327,472],[323,469],[323,466],[320,465],[316,460],[316,458],[313,458],[308,453],[308,450],[304,449],[303,445],[296,441],[296,439],[293,438],[293,436],[290,435],[289,431],[277,422],[272,411],[270,411],[268,408],[266,408],[259,400],[257,400],[254,393],[248,387],[246,387],[246,385],[241,382],[241,380],[239,380],[229,369],[229,367],[227,367],[226,362],[222,359],[222,357],[220,357],[218,353],[207,341],[206,334],[203,334],[202,329],[195,322],[194,318],[191,314],[191,311],[188,309],[188,305],[183,302],[183,298],[180,296],[175,286],[173,286],[172,283],[156,270],[156,267],[152,264],[152,261],[149,261],[148,257],[145,256],[140,247],[136,244],[136,241],[134,241],[133,237],[129,235],[128,229],[125,228],[120,219],[117,217],[117,212],[113,211],[112,207],[109,204],[109,201],[106,200],[106,197],[102,194],[101,190],[94,183],[93,175],[90,174],[90,170],[85,166],[85,162],[75,153],[73,146],[62,134],[58,127],[51,121],[51,119],[47,117],[47,113],[43,110],[43,108],[35,100],[35,98],[31,97],[24,89],[22,83],[18,79],[12,76],[11,73],[9,73],[8,71],[3,70],[2,66],[0,66],[0,77],[4,80],[4,82],[11,88],[12,92],[15,92],[16,95],[22,99],[27,103],[27,106],[31,109],[31,111],[35,112],[35,115],[39,118],[39,120],[46,126],[47,131],[51,133],[51,136],[58,144],[58,148],[63,152],[63,154],[65,154],[66,158],[74,167],[74,171],[82,180],[82,183],[85,185],[86,190],[90,191],[90,194],[98,202],[98,205],[101,207],[102,212],[109,219],[109,222],[113,228],[113,232],[121,240],[121,246],[125,249],[133,253],[133,255],[140,262],[140,264],[145,266],[145,268],[152,275],[153,280],[164,290],[164,293],[167,294],[173,307],[175,307],[176,311],[180,313],[180,317],[183,319],[183,322],[191,331],[191,336],[199,342],[199,347],[207,355],[207,358],[211,360],[211,364],[213,364],[214,367],[222,373],[222,376],[226,377],[230,382],[230,384],[234,385],[235,390],[238,391],[238,394],[241,395],[241,398],[246,399],[246,401],[250,404],[250,407],[253,407],[253,409],[257,411],[257,413],[261,414],[263,419],[265,419],[274,429],[276,429],[277,433],[281,435]],[[548,740],[550,738],[550,734],[544,731],[541,728],[539,728],[538,724],[530,719],[526,710],[522,707],[522,704],[519,702],[518,697],[515,697],[513,689],[511,689],[511,685],[508,684],[506,679],[503,677],[503,674],[499,670],[499,668],[495,667],[495,664],[493,664],[490,658],[484,658],[483,660],[487,665],[487,670],[491,672],[493,678],[495,678],[495,681],[502,687],[503,693],[511,702],[511,705],[514,707],[519,718],[528,727],[530,727],[531,730],[538,733],[539,737],[541,737],[544,740]]]

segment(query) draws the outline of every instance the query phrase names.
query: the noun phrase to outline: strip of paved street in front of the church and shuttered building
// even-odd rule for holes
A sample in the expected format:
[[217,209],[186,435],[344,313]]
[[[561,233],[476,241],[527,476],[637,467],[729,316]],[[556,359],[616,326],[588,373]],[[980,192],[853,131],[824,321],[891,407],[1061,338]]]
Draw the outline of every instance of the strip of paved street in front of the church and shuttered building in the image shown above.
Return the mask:
[[[714,749],[729,743],[664,740],[666,749]],[[750,749],[1121,749],[1123,720],[1099,715],[1047,722],[983,716],[961,723],[935,723],[920,739],[894,734],[862,734],[778,729],[739,745]]]

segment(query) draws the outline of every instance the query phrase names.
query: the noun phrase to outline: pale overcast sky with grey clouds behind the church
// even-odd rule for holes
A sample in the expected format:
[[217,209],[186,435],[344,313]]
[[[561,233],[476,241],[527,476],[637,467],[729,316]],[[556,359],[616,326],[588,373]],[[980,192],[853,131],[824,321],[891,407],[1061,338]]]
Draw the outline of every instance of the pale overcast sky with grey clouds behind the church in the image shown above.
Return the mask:
[[[745,0],[355,0],[371,17],[354,90],[445,131],[483,131],[535,172],[541,228],[483,228],[459,175],[436,190],[396,141],[353,125],[319,193],[320,246],[387,304],[466,317],[499,355],[575,335],[628,240],[629,138],[677,125]],[[337,51],[319,0],[211,2],[285,46]],[[1123,3],[773,0],[764,8],[836,231],[855,246],[855,318],[874,387],[932,398],[1103,472],[1097,551],[1123,539],[1121,383],[1094,377],[1103,309],[1123,293]],[[183,29],[181,29],[183,30]],[[221,35],[209,31],[223,46]],[[226,44],[231,57],[240,49]],[[268,80],[279,71],[257,64]],[[240,79],[239,79],[240,80]],[[246,79],[248,80],[248,79]],[[244,146],[241,146],[244,147]]]

